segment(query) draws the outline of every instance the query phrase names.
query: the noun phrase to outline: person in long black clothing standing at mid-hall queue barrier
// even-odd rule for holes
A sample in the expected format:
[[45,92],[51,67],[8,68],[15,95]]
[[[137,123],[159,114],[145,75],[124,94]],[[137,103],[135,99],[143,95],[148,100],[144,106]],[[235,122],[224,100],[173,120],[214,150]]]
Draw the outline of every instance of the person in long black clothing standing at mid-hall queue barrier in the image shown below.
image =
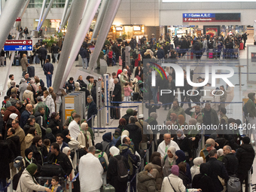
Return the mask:
[[[117,78],[114,79],[114,90],[112,93],[113,102],[122,102],[122,88]],[[119,103],[113,103],[113,106],[119,107]],[[111,118],[120,119],[120,108],[111,108]]]

